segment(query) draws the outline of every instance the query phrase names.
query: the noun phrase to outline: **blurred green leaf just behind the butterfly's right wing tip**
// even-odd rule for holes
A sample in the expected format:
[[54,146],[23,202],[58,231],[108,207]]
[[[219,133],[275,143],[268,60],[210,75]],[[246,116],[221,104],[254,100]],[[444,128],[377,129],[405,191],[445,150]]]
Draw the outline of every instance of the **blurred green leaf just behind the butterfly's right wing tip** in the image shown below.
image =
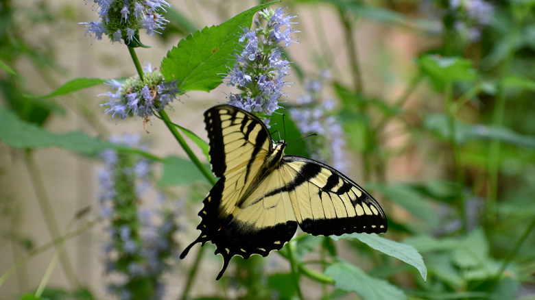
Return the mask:
[[406,184],[371,184],[372,190],[377,190],[393,202],[403,206],[414,216],[426,221],[430,225],[438,225],[436,214],[431,203],[425,201],[416,190]]

